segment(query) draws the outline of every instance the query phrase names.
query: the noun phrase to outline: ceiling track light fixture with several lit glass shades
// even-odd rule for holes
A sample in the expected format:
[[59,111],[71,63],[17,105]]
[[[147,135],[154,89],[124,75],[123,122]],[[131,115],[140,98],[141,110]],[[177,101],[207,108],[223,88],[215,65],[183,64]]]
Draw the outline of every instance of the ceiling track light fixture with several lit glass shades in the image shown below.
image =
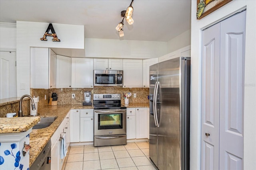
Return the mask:
[[[134,0],[132,0],[133,2]],[[126,9],[126,11],[121,11],[121,17],[123,17],[123,20],[118,23],[118,25],[116,26],[116,30],[119,33],[120,37],[124,36],[124,18],[126,18],[126,21],[128,22],[129,25],[132,25],[134,20],[132,19],[132,12],[133,12],[133,7],[132,7],[132,2],[130,4],[130,6],[128,6],[128,8]]]

